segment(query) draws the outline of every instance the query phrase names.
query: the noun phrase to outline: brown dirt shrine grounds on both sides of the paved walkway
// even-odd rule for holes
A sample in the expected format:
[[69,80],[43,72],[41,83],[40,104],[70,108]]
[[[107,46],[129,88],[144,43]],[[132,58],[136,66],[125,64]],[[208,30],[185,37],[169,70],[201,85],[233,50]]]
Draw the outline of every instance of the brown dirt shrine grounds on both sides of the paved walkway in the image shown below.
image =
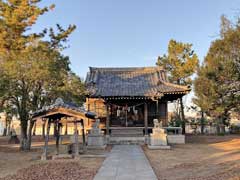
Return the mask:
[[[89,156],[78,160],[62,159],[41,161],[42,145],[34,137],[30,152],[19,152],[16,145],[7,144],[0,137],[0,180],[91,180],[97,173],[104,156],[111,150],[90,150]],[[173,145],[171,150],[149,150],[142,146],[158,179],[166,180],[239,180],[240,136],[186,136],[187,143]],[[51,144],[51,141],[50,141]],[[50,151],[54,151],[54,142]],[[96,155],[96,156],[94,156]]]

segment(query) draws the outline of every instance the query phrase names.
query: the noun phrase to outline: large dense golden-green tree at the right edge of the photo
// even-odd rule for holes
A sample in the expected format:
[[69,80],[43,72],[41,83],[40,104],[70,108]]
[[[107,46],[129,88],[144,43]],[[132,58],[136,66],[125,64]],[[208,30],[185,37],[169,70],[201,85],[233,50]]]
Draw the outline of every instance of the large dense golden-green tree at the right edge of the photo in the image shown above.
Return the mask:
[[231,111],[240,109],[240,19],[221,17],[220,38],[212,42],[195,79],[195,104],[227,125]]

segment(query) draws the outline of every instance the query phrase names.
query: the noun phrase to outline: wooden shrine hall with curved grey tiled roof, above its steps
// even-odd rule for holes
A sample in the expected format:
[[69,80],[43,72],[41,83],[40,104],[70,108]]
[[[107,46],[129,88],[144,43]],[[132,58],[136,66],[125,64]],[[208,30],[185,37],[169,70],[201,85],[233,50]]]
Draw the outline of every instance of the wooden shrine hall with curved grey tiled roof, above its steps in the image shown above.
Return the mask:
[[86,105],[97,114],[106,135],[124,128],[138,128],[148,135],[153,119],[167,126],[167,103],[190,91],[187,86],[170,83],[161,67],[90,67],[89,70]]

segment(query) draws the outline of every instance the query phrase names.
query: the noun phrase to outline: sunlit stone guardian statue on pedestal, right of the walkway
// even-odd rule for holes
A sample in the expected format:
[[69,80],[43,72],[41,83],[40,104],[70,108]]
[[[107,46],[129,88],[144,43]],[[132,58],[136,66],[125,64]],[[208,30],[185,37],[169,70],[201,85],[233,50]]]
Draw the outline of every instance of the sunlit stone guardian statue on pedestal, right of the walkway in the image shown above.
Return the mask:
[[162,128],[162,122],[158,121],[158,119],[153,120],[154,127],[152,129],[152,133],[150,134],[149,139],[149,149],[170,149],[170,146],[167,142],[167,134],[165,130]]

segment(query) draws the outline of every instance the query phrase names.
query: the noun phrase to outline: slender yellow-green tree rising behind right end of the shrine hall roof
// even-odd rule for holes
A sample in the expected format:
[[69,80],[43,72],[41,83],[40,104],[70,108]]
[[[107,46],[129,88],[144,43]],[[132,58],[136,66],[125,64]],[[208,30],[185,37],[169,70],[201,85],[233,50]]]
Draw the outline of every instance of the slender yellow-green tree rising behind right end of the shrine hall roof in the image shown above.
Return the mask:
[[[158,57],[158,66],[168,71],[170,81],[179,85],[191,85],[191,76],[198,67],[198,57],[192,50],[192,44],[170,40],[168,54]],[[185,115],[183,100],[180,98],[181,121],[183,134],[185,133]]]

